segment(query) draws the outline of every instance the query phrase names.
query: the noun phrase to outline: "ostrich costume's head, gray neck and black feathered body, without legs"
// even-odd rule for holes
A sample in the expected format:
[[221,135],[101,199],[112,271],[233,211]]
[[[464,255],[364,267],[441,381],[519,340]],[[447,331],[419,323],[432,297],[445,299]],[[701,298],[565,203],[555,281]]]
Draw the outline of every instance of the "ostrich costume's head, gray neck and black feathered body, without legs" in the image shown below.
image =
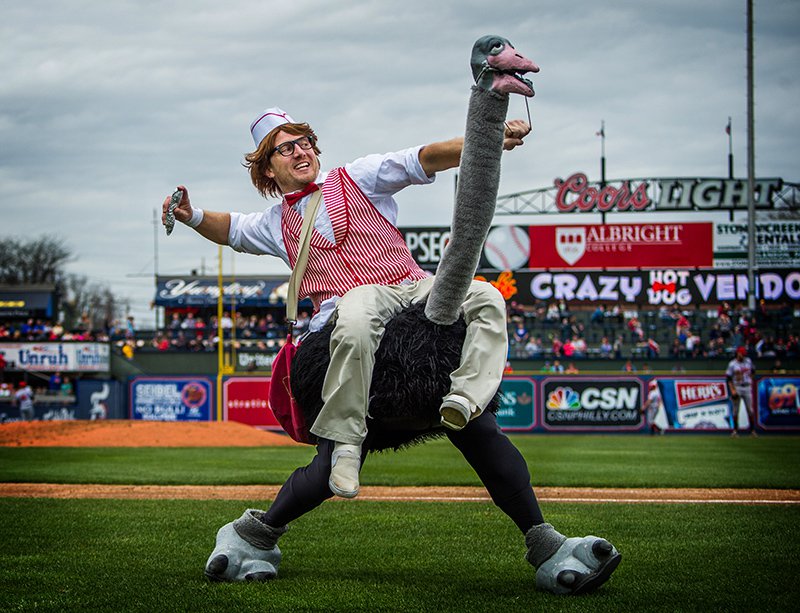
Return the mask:
[[[484,36],[472,50],[472,88],[450,242],[424,303],[392,318],[376,353],[367,417],[369,450],[398,448],[443,433],[439,407],[459,366],[466,324],[459,310],[494,217],[508,94],[532,96],[538,67],[506,39]],[[334,324],[310,334],[292,363],[292,393],[311,424],[322,408]],[[487,410],[496,411],[497,398]]]

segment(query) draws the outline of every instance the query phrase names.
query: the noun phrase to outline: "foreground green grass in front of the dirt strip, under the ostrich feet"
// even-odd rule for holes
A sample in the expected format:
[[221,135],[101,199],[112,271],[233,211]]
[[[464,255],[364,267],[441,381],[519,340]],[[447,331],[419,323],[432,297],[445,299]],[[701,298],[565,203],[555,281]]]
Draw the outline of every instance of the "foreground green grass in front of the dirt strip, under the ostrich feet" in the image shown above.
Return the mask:
[[482,503],[325,504],[283,537],[276,581],[208,583],[213,535],[246,504],[0,499],[0,610],[789,611],[800,595],[786,506],[545,505],[623,552],[578,598],[536,591],[521,535]]

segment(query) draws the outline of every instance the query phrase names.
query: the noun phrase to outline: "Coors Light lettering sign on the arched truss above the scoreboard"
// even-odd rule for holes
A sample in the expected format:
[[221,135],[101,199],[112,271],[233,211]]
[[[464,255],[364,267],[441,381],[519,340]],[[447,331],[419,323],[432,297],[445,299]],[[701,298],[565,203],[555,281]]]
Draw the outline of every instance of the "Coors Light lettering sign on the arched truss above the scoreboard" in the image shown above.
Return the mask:
[[[742,179],[675,178],[628,179],[605,186],[590,183],[584,173],[556,179],[555,205],[559,212],[574,211],[708,211],[747,208],[747,181]],[[755,206],[775,208],[773,197],[783,180],[757,179]]]

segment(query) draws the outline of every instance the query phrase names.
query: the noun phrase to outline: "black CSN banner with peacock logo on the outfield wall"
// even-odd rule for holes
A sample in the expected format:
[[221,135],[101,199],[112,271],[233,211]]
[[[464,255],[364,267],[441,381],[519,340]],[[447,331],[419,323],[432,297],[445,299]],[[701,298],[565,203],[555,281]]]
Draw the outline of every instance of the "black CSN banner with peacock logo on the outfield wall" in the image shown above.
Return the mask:
[[620,431],[642,426],[641,379],[546,377],[540,389],[545,430]]

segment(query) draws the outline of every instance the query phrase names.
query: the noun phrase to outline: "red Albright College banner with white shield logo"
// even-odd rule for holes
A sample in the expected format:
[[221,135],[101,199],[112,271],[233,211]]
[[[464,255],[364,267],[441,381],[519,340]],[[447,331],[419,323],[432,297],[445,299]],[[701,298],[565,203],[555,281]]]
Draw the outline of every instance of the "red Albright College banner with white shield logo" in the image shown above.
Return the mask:
[[529,268],[708,268],[713,224],[530,226]]

